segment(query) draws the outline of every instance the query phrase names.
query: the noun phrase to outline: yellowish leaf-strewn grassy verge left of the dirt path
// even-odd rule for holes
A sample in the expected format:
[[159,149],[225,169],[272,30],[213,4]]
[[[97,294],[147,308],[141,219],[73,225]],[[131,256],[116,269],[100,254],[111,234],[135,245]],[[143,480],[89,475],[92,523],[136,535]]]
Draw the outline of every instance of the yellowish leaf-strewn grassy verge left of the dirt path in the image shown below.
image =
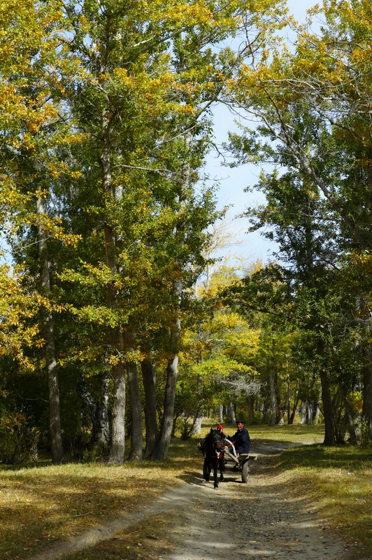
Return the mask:
[[118,512],[140,510],[200,468],[195,441],[194,448],[195,458],[173,450],[178,456],[159,464],[0,468],[0,558],[27,559]]

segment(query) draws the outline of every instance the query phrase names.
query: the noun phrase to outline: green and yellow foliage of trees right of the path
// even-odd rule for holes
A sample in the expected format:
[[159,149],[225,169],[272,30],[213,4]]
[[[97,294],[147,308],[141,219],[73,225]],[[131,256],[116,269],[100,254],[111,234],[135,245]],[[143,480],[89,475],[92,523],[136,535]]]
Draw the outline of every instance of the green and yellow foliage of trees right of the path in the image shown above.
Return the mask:
[[[248,57],[229,83],[241,109],[259,120],[255,130],[231,134],[236,164],[275,166],[256,186],[265,204],[246,215],[251,230],[264,229],[278,243],[279,259],[234,293],[241,309],[267,314],[269,330],[290,322],[298,331],[292,355],[301,368],[299,394],[316,393],[314,380],[322,378],[327,432],[334,429],[326,439],[334,441],[343,440],[340,411],[348,406],[338,384],[355,391],[370,352],[370,274],[356,279],[353,271],[369,262],[371,248],[371,8],[363,0],[324,1],[315,14],[324,18],[318,35],[294,25],[295,49],[273,36],[270,56],[263,51],[254,64]],[[369,384],[364,414],[371,430]]]

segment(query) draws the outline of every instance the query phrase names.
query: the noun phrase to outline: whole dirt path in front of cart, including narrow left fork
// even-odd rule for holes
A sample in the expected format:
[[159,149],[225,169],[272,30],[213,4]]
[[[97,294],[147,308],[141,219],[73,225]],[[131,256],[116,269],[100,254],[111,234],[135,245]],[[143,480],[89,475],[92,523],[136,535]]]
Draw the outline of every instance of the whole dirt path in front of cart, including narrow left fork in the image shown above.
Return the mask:
[[[62,559],[138,524],[152,526],[156,533],[152,518],[159,519],[159,515],[171,519],[166,533],[160,535],[164,549],[159,556],[159,552],[153,556],[149,551],[145,559],[362,560],[332,538],[305,499],[294,498],[280,484],[280,477],[271,474],[271,456],[281,450],[278,445],[252,449],[258,460],[252,465],[248,484],[241,483],[240,472],[227,469],[225,482],[213,489],[213,482],[204,482],[201,472],[193,473],[192,482],[166,493],[144,510],[123,514],[32,560]],[[157,545],[159,551],[160,543]]]

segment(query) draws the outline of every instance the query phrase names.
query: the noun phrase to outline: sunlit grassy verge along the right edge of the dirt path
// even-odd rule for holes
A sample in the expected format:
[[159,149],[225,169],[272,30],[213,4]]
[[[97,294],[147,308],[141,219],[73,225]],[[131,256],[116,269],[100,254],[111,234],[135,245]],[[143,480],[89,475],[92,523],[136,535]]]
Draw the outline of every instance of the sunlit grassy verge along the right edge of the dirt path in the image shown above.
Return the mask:
[[371,449],[320,444],[288,449],[276,458],[292,491],[308,496],[329,526],[361,545],[367,557],[372,557],[371,458]]

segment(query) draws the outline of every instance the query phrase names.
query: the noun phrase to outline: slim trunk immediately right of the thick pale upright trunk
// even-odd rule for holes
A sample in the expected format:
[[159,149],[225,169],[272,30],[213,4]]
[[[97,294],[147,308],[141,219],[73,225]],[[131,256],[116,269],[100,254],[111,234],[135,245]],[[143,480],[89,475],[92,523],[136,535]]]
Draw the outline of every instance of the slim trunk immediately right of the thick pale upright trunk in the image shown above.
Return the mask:
[[131,403],[131,450],[129,461],[142,460],[142,407],[135,362],[127,363],[129,400]]

